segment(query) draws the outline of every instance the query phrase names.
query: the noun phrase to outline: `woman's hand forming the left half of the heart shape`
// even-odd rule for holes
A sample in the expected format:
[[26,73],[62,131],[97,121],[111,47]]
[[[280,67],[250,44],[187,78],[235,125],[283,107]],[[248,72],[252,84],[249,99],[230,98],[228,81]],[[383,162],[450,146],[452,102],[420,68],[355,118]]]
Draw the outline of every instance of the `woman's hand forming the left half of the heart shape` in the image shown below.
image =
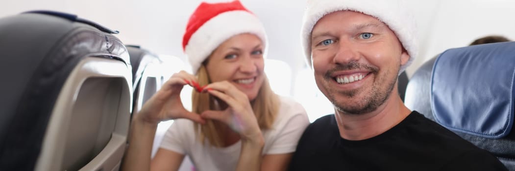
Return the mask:
[[177,118],[205,123],[200,115],[186,110],[181,102],[180,94],[184,85],[194,86],[195,84],[197,84],[197,79],[192,74],[185,71],[174,73],[161,89],[143,105],[135,118],[152,124]]

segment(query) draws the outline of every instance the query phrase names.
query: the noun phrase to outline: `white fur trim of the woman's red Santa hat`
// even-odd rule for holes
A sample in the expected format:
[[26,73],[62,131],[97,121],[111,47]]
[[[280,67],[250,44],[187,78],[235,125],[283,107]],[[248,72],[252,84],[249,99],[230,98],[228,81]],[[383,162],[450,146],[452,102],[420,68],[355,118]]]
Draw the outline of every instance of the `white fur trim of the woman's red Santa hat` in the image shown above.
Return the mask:
[[[254,14],[243,10],[220,13],[199,27],[186,45],[185,53],[192,65],[193,74],[197,73],[202,62],[222,43],[232,36],[252,33],[267,47],[263,24]],[[263,54],[266,54],[264,50]],[[264,55],[265,56],[265,55]]]

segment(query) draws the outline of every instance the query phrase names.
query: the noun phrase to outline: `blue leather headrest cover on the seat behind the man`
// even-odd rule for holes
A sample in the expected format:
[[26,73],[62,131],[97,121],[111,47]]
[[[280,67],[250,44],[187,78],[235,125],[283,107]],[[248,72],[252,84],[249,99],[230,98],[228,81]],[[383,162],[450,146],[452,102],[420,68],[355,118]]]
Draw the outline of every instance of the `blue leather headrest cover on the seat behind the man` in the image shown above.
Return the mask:
[[433,116],[451,130],[503,138],[513,125],[514,99],[515,42],[449,49],[433,66]]

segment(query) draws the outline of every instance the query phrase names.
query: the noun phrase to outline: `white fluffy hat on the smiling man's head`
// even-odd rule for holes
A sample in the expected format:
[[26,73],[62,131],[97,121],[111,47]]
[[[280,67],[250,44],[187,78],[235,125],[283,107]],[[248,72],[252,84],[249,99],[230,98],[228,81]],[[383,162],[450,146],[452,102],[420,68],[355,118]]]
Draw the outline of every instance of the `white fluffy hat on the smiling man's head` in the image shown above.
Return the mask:
[[306,63],[312,67],[311,32],[318,20],[332,12],[349,10],[376,17],[397,35],[410,56],[409,61],[401,66],[401,73],[418,52],[415,20],[409,9],[403,0],[308,0],[301,32]]

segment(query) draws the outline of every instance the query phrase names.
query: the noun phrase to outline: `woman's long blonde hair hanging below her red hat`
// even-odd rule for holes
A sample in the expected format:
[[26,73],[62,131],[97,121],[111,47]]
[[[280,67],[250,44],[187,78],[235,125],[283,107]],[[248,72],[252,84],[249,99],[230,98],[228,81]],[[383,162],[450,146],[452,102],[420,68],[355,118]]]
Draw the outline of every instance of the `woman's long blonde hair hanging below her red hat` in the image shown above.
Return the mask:
[[[200,85],[207,85],[211,83],[209,80],[209,74],[205,69],[205,65],[201,65],[197,71],[197,79]],[[270,88],[268,79],[264,75],[264,82],[258,92],[258,96],[250,102],[252,110],[260,128],[270,129],[272,124],[277,117],[279,111],[279,97]],[[215,110],[215,98],[208,93],[199,93],[195,90],[192,92],[192,110],[194,113],[202,113],[205,110]],[[220,132],[221,126],[225,123],[208,120],[205,125],[195,124],[195,132],[199,136],[199,140],[204,142],[206,139],[209,143],[216,147],[222,147],[225,145],[225,135]]]

